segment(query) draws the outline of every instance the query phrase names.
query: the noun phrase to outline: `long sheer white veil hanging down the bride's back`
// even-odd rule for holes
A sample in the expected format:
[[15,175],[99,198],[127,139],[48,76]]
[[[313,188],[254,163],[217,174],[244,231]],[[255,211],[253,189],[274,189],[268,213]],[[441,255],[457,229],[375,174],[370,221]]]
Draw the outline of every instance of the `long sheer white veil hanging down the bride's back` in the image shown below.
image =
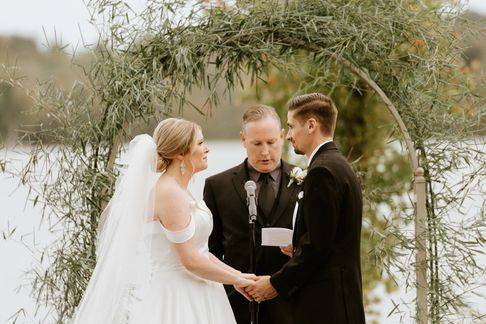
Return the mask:
[[154,215],[157,151],[149,135],[129,145],[127,166],[101,217],[96,267],[72,323],[128,323],[150,280],[148,224]]

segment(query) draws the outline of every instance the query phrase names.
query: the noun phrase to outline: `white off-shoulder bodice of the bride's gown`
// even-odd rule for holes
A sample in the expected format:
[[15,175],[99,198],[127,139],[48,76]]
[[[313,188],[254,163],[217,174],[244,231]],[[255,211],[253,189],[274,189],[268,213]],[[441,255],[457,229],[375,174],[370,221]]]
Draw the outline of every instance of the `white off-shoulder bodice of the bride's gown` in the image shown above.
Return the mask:
[[208,255],[208,238],[213,229],[212,214],[203,200],[191,203],[189,224],[180,231],[169,231],[159,221],[148,224],[152,270],[184,270],[175,251],[175,244],[191,240],[199,252]]

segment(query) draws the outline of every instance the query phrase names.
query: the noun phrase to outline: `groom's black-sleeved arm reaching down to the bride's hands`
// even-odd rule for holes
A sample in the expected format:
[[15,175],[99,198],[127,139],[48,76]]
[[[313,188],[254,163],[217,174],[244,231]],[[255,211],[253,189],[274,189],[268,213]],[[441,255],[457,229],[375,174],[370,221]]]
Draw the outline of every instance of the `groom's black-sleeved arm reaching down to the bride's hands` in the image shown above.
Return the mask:
[[321,270],[335,243],[341,193],[333,175],[323,167],[309,171],[304,182],[305,232],[292,258],[270,282],[280,295],[290,296],[315,271]]

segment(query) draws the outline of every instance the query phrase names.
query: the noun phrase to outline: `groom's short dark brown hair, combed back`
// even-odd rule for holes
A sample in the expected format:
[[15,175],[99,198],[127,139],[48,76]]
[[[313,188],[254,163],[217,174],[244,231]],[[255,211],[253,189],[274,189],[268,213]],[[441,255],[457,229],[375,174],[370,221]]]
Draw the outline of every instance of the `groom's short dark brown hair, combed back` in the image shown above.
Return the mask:
[[301,122],[314,117],[324,135],[334,134],[338,111],[328,96],[318,92],[300,95],[290,100],[288,109]]

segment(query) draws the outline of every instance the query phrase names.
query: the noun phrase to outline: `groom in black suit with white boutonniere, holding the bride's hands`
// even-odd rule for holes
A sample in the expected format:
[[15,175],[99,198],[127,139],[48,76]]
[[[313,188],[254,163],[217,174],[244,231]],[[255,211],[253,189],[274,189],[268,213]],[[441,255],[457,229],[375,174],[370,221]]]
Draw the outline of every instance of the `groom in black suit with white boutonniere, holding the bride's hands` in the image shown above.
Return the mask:
[[247,288],[290,300],[295,323],[365,323],[360,267],[361,187],[333,142],[337,109],[320,93],[289,103],[287,139],[308,158],[291,259]]

